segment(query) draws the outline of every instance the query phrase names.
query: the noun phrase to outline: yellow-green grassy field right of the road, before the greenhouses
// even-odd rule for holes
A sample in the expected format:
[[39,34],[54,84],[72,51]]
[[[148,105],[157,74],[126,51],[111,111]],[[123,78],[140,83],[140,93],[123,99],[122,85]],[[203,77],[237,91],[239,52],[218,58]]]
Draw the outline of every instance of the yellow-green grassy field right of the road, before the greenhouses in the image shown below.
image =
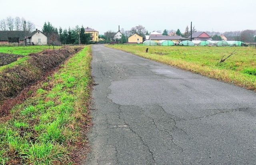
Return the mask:
[[[106,46],[256,90],[254,47]],[[148,53],[145,53],[146,48]],[[224,55],[227,57],[234,50],[236,50],[234,55],[220,63]]]

